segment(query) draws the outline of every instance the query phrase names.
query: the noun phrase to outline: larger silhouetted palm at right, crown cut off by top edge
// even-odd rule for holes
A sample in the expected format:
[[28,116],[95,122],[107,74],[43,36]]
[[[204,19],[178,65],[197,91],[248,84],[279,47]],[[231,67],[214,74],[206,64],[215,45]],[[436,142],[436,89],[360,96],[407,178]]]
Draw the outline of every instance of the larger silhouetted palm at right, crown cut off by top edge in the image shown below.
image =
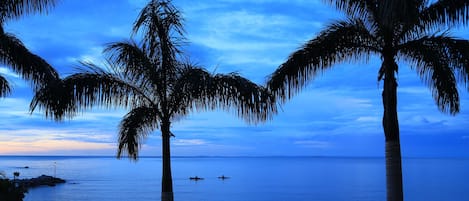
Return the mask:
[[469,22],[467,0],[328,0],[347,16],[293,52],[271,75],[268,87],[283,101],[336,63],[379,55],[383,80],[387,200],[403,200],[397,60],[411,64],[432,91],[438,108],[459,112],[458,83],[469,79],[469,41],[447,30]]

